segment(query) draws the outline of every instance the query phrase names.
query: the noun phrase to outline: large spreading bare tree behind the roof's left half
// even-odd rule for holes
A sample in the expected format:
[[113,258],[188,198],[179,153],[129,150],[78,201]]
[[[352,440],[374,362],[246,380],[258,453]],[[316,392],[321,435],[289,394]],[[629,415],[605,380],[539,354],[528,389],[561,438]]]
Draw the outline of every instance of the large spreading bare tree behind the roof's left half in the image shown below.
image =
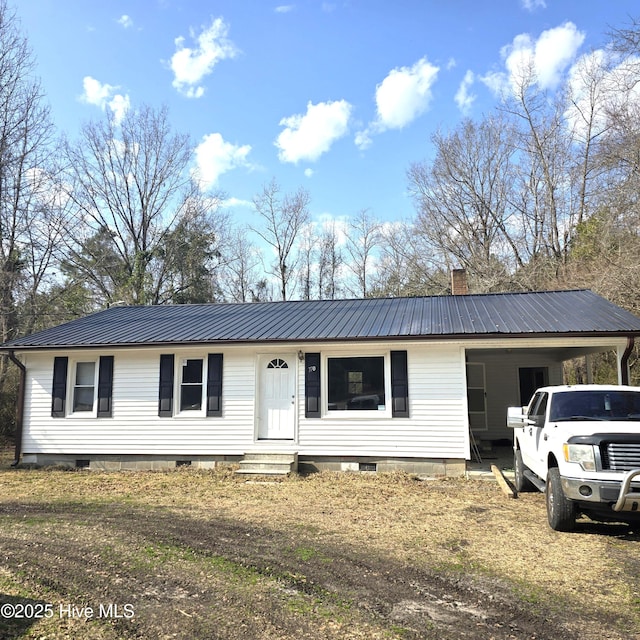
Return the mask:
[[[200,238],[201,246],[207,255],[215,253],[221,201],[203,196],[190,179],[189,138],[171,131],[165,108],[143,107],[128,111],[121,122],[109,113],[102,122],[87,124],[65,151],[68,197],[77,228],[84,231],[67,260],[67,273],[92,283],[102,304],[171,299],[176,279],[168,274],[175,276],[177,266],[167,260],[178,254],[166,250],[169,239],[179,228],[191,234],[202,229],[208,240]],[[177,246],[174,242],[173,249]],[[182,298],[185,286],[179,287]]]

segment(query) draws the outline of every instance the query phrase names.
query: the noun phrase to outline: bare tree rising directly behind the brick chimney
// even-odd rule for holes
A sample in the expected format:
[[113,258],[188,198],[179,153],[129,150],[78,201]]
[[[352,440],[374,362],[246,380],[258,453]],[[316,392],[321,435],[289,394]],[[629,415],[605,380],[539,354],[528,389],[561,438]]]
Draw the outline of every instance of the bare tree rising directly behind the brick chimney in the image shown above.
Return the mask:
[[432,138],[435,158],[409,169],[416,231],[442,264],[474,274],[482,290],[521,267],[521,228],[510,206],[514,132],[503,118],[464,121]]

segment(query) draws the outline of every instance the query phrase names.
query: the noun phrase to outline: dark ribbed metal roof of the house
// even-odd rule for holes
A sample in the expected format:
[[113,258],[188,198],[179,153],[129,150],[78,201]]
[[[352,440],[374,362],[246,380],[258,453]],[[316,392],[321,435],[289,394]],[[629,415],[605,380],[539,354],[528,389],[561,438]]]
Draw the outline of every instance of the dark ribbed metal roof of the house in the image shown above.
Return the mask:
[[610,334],[640,335],[640,318],[575,290],[112,307],[2,348]]

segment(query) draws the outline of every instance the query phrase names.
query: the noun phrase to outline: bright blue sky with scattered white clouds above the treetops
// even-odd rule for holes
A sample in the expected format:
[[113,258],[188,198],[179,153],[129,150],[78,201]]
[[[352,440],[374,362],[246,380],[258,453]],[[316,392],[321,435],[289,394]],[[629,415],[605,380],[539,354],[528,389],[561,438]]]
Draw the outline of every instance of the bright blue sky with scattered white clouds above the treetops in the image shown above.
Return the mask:
[[[517,55],[553,90],[637,0],[18,0],[55,124],[166,105],[238,220],[274,178],[311,212],[410,219],[430,138],[497,103]],[[195,167],[194,167],[195,168]]]

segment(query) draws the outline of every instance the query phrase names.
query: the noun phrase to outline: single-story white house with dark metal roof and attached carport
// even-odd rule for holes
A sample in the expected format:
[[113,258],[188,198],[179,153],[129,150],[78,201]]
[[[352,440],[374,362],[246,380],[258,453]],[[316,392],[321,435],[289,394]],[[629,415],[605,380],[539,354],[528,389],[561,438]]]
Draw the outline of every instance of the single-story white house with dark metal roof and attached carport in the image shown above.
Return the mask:
[[116,306],[0,346],[21,371],[18,461],[461,475],[506,408],[613,351],[640,318],[588,290]]

